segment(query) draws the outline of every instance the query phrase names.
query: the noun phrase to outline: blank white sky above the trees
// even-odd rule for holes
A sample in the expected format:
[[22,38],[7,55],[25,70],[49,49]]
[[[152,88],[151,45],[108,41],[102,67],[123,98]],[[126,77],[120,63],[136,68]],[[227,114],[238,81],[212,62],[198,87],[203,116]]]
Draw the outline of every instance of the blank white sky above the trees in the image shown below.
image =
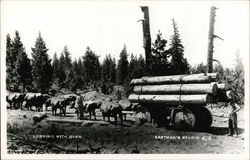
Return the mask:
[[[152,42],[158,30],[170,42],[175,19],[184,57],[191,65],[206,64],[210,7],[216,6],[214,59],[223,66],[235,64],[238,50],[244,64],[249,60],[249,1],[1,1],[1,51],[6,35],[14,38],[19,31],[27,54],[31,57],[39,31],[50,58],[61,54],[67,45],[72,59],[84,55],[87,46],[101,60],[106,54],[119,58],[126,44],[129,56],[143,54],[140,6],[149,6]],[[167,44],[167,46],[168,46]]]

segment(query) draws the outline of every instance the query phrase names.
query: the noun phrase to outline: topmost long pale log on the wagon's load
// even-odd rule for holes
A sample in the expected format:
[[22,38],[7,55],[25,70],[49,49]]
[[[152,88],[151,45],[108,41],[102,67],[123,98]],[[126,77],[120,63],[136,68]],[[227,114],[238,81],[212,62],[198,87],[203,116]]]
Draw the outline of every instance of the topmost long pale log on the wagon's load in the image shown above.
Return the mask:
[[181,83],[210,83],[212,77],[204,73],[192,75],[155,76],[133,79],[131,85],[138,84],[181,84]]

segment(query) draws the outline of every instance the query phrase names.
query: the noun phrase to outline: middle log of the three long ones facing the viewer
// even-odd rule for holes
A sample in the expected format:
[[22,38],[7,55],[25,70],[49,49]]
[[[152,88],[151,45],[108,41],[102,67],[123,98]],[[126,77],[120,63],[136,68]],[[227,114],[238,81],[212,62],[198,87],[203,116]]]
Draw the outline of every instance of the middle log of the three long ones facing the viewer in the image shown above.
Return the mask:
[[135,86],[136,94],[217,94],[216,83]]

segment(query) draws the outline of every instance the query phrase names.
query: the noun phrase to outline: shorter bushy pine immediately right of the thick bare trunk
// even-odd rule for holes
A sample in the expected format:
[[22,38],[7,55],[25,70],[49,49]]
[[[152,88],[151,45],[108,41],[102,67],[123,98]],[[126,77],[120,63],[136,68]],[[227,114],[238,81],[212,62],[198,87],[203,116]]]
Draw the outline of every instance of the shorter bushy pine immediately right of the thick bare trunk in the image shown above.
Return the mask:
[[170,74],[170,53],[166,49],[167,40],[162,38],[159,31],[156,40],[152,44],[152,71],[151,75],[162,76]]

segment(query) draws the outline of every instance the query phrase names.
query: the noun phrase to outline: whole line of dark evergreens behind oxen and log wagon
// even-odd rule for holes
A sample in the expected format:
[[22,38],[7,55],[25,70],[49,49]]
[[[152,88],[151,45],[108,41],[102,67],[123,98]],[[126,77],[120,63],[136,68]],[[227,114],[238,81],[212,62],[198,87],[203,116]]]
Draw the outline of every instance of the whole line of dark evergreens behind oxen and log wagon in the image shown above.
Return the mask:
[[[125,93],[129,94],[129,83],[133,78],[206,72],[206,65],[202,63],[194,67],[188,64],[174,20],[173,28],[174,34],[170,38],[169,47],[161,32],[157,34],[152,44],[151,63],[147,73],[144,57],[129,54],[126,45],[122,48],[118,61],[108,54],[101,63],[98,54],[89,47],[82,56],[72,60],[67,46],[60,55],[55,53],[51,59],[41,33],[31,48],[32,58],[29,59],[19,32],[16,31],[13,39],[9,34],[6,39],[7,90],[47,93],[96,89],[111,94],[115,85],[121,85],[124,86]],[[237,93],[237,101],[243,103],[244,67],[238,55],[233,69],[223,68],[218,63],[214,71],[223,75],[221,81],[227,82]]]

